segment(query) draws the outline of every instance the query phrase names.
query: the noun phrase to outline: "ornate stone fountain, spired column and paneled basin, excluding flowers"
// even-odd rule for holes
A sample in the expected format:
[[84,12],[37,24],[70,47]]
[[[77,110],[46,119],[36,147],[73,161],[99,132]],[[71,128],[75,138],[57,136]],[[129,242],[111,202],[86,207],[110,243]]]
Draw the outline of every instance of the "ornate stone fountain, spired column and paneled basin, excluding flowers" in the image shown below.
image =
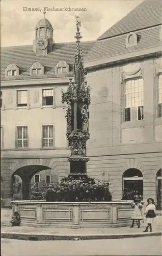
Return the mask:
[[[67,138],[70,142],[70,174],[72,179],[87,176],[86,142],[89,134],[90,87],[85,82],[86,71],[80,49],[80,22],[76,20],[76,55],[74,80],[67,92],[62,92],[62,102],[67,103]],[[36,227],[91,228],[129,226],[132,201],[119,202],[45,202],[12,201],[12,214],[18,211],[21,225]]]

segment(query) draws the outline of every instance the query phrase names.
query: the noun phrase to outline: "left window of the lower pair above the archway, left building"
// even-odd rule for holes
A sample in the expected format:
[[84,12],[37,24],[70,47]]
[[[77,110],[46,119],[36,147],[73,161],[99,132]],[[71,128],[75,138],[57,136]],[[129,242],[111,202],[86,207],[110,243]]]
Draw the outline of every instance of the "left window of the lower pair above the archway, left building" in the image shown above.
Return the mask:
[[28,126],[17,126],[17,148],[28,147]]

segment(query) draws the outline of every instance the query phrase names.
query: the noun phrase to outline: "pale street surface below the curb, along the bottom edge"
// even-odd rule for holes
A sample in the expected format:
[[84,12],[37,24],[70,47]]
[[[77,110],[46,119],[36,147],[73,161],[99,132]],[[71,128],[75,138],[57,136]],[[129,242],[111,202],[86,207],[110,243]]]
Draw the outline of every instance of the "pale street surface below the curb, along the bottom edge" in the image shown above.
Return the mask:
[[161,255],[161,237],[86,241],[2,239],[2,256]]

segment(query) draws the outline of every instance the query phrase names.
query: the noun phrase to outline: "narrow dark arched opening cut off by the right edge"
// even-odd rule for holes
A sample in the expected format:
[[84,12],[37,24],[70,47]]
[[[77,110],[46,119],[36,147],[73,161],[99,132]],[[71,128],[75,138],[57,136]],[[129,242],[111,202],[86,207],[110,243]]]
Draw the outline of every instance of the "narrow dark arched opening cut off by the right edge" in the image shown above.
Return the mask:
[[161,202],[161,188],[162,188],[162,168],[158,170],[156,174],[156,210],[162,210],[162,202]]

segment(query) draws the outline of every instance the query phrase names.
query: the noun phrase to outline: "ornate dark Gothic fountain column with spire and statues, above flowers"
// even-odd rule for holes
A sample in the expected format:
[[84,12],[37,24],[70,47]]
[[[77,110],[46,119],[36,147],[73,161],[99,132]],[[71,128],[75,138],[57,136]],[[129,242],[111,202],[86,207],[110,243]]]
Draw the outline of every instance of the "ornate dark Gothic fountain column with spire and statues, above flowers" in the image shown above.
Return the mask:
[[74,57],[74,78],[70,79],[67,92],[62,91],[62,103],[66,102],[67,120],[67,139],[70,143],[71,156],[70,174],[72,178],[87,176],[87,157],[86,141],[90,138],[89,134],[89,104],[90,86],[85,82],[86,70],[84,68],[83,55],[80,46],[80,20],[76,16],[76,54]]

